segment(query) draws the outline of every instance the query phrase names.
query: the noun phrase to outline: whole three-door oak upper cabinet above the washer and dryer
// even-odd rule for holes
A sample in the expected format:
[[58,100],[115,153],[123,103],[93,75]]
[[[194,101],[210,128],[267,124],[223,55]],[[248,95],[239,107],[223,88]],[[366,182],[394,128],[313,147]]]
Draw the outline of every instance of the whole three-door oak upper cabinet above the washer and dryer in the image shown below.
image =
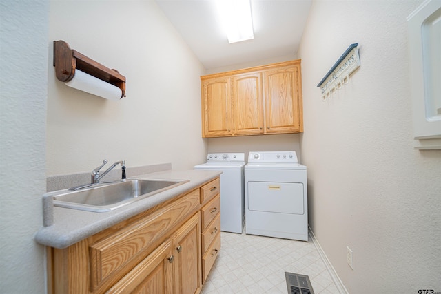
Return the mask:
[[201,76],[203,137],[303,132],[300,59]]

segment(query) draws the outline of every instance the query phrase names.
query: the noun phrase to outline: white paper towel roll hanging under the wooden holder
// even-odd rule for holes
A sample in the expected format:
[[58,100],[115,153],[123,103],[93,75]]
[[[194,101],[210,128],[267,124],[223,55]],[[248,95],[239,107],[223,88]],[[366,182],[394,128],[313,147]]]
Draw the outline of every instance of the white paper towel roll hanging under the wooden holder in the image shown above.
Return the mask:
[[123,94],[119,87],[102,81],[99,78],[95,78],[85,72],[81,72],[81,70],[78,69],[75,70],[74,78],[65,84],[83,92],[88,92],[113,101],[121,99]]

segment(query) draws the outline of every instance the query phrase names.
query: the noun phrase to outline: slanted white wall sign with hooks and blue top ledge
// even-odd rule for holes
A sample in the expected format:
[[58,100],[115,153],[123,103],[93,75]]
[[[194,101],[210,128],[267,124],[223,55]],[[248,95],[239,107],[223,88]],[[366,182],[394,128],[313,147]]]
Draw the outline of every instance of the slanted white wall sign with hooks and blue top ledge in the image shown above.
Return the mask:
[[322,90],[323,101],[329,98],[331,94],[336,94],[343,85],[349,83],[349,75],[360,67],[360,54],[358,54],[358,43],[353,43],[347,48],[340,59],[331,67],[317,87]]

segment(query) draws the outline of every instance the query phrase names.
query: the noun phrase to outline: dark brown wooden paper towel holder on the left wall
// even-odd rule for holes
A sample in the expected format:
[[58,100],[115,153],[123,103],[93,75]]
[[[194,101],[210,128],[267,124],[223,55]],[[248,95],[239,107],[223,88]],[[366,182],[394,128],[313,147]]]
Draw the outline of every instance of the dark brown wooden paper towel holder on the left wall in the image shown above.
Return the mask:
[[105,67],[101,63],[90,59],[80,52],[70,49],[65,41],[54,41],[54,67],[55,76],[64,83],[72,80],[75,70],[81,70],[102,81],[110,83],[121,89],[121,98],[125,97],[125,76],[117,70]]

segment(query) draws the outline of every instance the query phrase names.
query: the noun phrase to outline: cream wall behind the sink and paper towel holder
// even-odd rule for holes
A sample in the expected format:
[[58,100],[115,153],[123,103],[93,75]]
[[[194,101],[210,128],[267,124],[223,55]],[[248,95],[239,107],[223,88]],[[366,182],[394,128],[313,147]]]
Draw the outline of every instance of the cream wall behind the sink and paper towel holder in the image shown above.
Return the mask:
[[104,158],[174,169],[204,160],[205,69],[156,2],[51,1],[49,40],[119,70],[127,97],[107,101],[67,87],[55,78],[50,48],[48,176],[91,171]]

